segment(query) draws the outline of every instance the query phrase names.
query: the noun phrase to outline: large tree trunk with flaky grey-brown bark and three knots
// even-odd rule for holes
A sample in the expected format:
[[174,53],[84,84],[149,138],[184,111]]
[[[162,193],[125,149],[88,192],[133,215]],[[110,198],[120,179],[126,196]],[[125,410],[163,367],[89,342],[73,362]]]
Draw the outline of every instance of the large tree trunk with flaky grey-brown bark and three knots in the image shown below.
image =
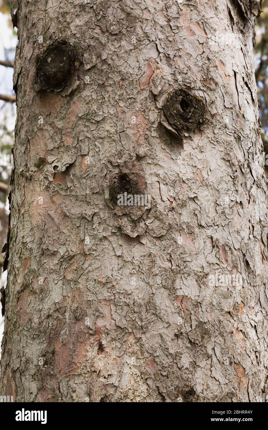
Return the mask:
[[[13,2],[1,394],[268,394],[256,3]],[[151,207],[119,206],[130,191]]]

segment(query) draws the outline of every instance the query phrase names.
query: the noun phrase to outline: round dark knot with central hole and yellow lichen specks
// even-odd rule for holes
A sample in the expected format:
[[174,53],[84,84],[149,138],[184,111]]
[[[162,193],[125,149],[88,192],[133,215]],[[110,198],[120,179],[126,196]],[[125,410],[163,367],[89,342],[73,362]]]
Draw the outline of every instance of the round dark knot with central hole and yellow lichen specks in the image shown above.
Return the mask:
[[185,89],[170,91],[163,104],[163,114],[177,132],[194,130],[206,121],[203,101]]

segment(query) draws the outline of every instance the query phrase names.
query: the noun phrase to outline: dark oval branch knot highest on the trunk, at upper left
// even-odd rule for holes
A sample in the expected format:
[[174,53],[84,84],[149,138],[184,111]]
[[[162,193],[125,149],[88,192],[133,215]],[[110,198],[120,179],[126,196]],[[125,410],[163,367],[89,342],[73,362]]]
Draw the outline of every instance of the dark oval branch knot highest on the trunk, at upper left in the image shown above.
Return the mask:
[[75,68],[76,55],[65,41],[52,43],[37,59],[37,75],[43,91],[60,91],[67,86]]

